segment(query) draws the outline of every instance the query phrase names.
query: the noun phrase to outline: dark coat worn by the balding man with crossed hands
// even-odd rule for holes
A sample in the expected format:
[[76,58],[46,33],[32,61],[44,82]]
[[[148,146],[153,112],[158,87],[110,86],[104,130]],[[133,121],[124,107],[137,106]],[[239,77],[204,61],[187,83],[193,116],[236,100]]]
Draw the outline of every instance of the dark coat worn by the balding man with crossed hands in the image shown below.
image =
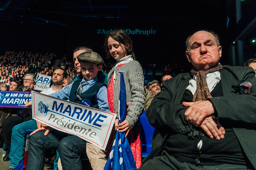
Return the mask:
[[[240,142],[247,158],[256,168],[256,78],[251,67],[223,66],[220,71],[223,97],[212,97],[217,110],[217,120],[223,120],[233,130]],[[184,91],[192,77],[189,73],[182,73],[163,82],[163,90],[152,100],[146,115],[150,124],[155,127],[152,140],[152,151],[143,163],[161,154],[164,149],[168,131],[187,134],[192,125],[185,121],[184,113],[187,107],[180,104]],[[241,80],[252,84],[250,94],[234,93],[232,86],[237,86]],[[223,123],[222,123],[223,124]]]

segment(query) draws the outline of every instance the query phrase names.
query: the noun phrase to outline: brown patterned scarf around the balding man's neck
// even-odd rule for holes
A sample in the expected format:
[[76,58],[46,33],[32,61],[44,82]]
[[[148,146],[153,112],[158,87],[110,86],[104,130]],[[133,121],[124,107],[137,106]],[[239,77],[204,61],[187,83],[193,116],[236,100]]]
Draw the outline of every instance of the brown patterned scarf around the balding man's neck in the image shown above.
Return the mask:
[[193,96],[193,102],[204,101],[212,97],[206,82],[206,74],[219,71],[222,68],[223,68],[222,65],[219,64],[218,66],[213,67],[206,71],[204,70],[195,71],[194,69],[191,70],[192,75],[197,75],[197,90]]

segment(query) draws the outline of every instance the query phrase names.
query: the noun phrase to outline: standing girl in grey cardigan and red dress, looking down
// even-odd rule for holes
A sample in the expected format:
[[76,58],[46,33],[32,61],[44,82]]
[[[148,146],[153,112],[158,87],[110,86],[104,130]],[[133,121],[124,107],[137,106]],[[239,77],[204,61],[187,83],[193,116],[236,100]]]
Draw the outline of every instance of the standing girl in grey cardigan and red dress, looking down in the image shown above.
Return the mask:
[[[120,73],[123,70],[126,88],[126,119],[119,124],[115,121],[115,130],[126,132],[137,168],[141,165],[140,125],[138,120],[143,111],[144,77],[140,63],[135,61],[132,41],[126,31],[120,29],[109,33],[105,39],[105,51],[116,60],[116,65],[108,73],[108,105],[110,111],[118,115],[120,92]],[[130,54],[130,55],[127,55]]]

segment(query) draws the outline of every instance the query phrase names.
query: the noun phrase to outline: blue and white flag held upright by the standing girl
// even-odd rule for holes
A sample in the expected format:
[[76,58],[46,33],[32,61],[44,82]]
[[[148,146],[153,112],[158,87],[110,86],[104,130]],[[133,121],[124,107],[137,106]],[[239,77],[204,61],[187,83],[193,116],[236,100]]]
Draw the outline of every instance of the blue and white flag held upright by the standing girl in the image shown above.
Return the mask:
[[[120,71],[119,71],[120,72]],[[121,72],[120,94],[119,94],[119,123],[122,123],[126,117],[126,90]],[[133,153],[130,148],[125,132],[116,132],[116,137],[113,142],[107,163],[104,170],[133,170],[136,169],[136,164],[133,158]]]

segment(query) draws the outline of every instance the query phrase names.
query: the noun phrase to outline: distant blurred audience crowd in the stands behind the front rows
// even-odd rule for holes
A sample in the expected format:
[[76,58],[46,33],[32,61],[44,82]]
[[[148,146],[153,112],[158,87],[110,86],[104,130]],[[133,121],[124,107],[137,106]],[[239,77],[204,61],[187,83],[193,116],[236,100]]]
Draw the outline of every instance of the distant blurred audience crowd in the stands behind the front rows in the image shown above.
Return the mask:
[[[5,83],[8,87],[11,81],[19,80],[23,83],[23,76],[27,73],[45,74],[52,76],[54,71],[54,60],[56,55],[53,53],[36,53],[32,52],[14,52],[7,51],[4,56],[0,56],[0,83]],[[104,73],[109,73],[115,63],[105,62],[102,66]],[[183,72],[183,69],[178,64],[156,65],[156,64],[142,64],[144,74],[152,75],[150,80],[157,79],[156,73],[159,75],[169,74],[175,76]],[[59,68],[67,71],[67,75],[73,80],[79,75],[74,69],[74,62],[66,58],[66,55],[59,61]],[[160,81],[160,79],[159,79]]]

